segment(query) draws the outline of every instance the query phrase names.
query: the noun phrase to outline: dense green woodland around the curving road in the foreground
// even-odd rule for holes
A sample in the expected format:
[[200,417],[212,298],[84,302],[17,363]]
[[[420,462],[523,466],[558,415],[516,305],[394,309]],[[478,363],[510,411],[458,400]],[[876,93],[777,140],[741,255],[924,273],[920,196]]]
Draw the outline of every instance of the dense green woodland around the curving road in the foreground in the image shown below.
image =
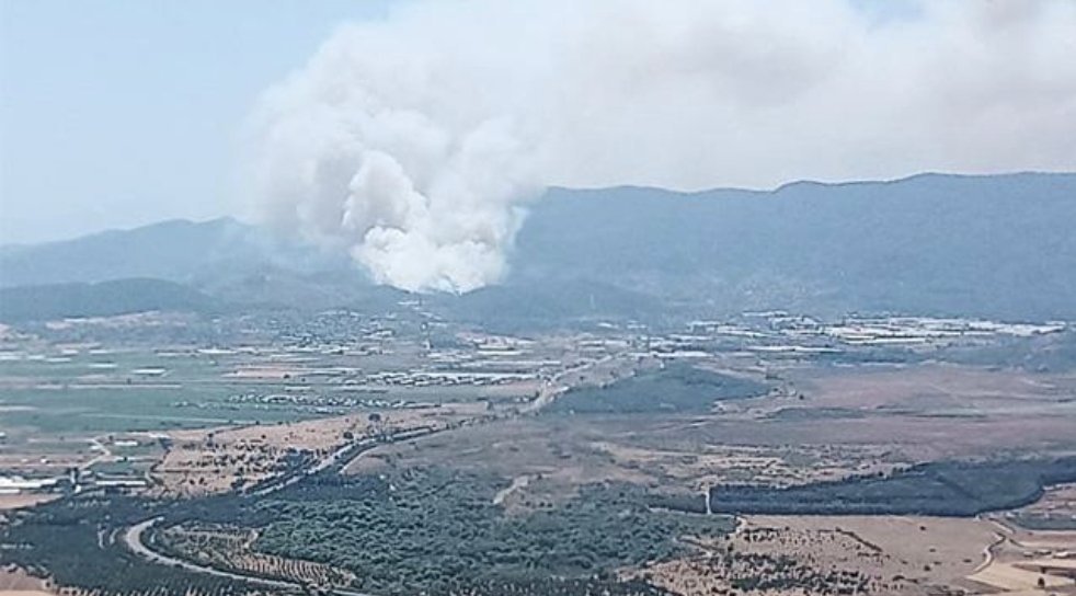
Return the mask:
[[[0,564],[110,594],[256,588],[130,552],[126,529],[159,517],[146,536],[167,555],[321,588],[350,583],[386,595],[662,596],[649,583],[619,580],[615,570],[683,553],[677,538],[686,534],[720,536],[733,528],[723,516],[651,511],[643,490],[630,484],[584,486],[571,501],[508,514],[493,503],[506,484],[431,468],[358,477],[325,471],[261,495],[76,495],[13,513],[0,530]],[[215,526],[221,530],[213,534]],[[260,538],[253,545],[232,539],[239,546],[227,552],[227,528],[232,536],[255,529]]]

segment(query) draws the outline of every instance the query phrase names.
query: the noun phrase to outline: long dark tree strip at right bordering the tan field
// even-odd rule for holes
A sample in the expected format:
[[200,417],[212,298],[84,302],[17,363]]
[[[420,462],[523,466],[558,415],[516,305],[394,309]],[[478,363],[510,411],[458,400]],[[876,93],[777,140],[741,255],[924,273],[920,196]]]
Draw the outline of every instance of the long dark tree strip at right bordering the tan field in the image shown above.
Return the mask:
[[[721,485],[710,509],[772,515],[938,515],[970,517],[1028,505],[1044,486],[1076,482],[1076,457],[1017,461],[938,461],[889,475],[771,488]],[[701,497],[660,500],[680,511],[705,511]]]

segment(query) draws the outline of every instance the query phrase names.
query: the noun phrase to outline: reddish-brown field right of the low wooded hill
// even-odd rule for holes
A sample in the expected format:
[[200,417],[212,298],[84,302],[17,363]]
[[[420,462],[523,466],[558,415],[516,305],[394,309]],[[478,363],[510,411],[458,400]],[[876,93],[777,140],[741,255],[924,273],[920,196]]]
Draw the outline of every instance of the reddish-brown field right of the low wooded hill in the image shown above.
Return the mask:
[[[901,461],[1076,452],[1072,375],[931,365],[809,367],[782,376],[786,396],[748,400],[697,420],[666,419],[664,432],[645,434],[655,445],[867,449]],[[626,429],[631,424],[625,421]]]

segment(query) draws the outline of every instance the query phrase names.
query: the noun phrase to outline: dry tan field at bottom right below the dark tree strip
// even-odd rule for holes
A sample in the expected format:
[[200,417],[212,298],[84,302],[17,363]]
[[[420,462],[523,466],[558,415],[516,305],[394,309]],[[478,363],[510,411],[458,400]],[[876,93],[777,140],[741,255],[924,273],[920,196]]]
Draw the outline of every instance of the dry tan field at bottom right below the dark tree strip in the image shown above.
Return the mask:
[[[730,594],[749,566],[730,565],[721,553],[781,558],[789,569],[856,573],[869,594],[937,596],[1076,594],[1076,532],[1031,532],[994,519],[905,516],[746,516],[731,540],[695,542],[691,555],[630,570],[685,596]],[[802,588],[744,594],[805,596]]]

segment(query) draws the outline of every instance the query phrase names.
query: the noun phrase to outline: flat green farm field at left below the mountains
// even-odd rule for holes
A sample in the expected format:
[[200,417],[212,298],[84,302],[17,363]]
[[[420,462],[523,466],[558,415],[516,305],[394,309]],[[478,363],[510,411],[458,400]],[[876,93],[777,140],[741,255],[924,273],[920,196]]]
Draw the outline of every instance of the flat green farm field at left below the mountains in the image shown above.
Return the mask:
[[[51,359],[50,359],[51,358]],[[49,354],[0,362],[4,429],[38,435],[274,424],[318,417],[288,405],[229,402],[244,393],[278,392],[279,385],[231,379],[249,356],[154,352]],[[161,376],[142,369],[164,369]],[[139,373],[141,370],[141,373]]]

